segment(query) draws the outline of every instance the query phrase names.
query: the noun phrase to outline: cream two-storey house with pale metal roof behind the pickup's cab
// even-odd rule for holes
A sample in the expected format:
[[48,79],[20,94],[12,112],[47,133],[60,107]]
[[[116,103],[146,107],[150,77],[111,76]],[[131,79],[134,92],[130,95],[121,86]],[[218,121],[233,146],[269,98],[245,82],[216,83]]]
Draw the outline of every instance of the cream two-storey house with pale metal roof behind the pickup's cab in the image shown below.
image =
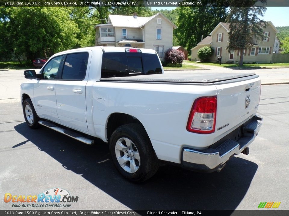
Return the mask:
[[172,33],[177,27],[162,13],[150,17],[109,15],[107,24],[95,26],[95,46],[154,49],[160,58],[172,48]]

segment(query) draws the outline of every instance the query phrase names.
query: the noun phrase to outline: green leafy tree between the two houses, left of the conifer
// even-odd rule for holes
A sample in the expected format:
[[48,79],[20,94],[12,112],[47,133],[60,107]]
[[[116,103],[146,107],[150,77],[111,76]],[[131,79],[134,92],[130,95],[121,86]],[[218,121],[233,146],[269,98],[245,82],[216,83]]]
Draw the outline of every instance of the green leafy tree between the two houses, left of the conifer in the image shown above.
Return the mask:
[[[202,1],[203,4],[203,1]],[[226,7],[177,7],[178,13],[174,37],[180,45],[191,50],[203,38],[210,35],[210,32],[219,22],[226,18]]]

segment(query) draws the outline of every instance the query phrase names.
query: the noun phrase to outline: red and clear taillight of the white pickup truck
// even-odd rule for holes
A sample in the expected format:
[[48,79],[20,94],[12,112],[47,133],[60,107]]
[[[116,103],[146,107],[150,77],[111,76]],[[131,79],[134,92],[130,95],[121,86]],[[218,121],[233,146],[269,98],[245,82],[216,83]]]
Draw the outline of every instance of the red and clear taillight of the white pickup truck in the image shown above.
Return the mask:
[[187,130],[199,134],[215,132],[216,112],[216,96],[197,98],[191,109]]

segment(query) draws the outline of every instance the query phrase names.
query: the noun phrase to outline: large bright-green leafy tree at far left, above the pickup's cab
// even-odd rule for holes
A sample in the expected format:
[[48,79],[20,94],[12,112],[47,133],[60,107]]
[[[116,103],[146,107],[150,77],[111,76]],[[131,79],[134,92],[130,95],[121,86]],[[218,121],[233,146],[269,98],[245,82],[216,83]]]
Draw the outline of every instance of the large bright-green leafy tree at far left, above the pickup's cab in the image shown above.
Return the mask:
[[[15,56],[26,55],[32,61],[78,44],[77,25],[67,7],[2,7],[1,25]],[[0,40],[4,40],[0,38]],[[2,44],[0,42],[0,44]]]

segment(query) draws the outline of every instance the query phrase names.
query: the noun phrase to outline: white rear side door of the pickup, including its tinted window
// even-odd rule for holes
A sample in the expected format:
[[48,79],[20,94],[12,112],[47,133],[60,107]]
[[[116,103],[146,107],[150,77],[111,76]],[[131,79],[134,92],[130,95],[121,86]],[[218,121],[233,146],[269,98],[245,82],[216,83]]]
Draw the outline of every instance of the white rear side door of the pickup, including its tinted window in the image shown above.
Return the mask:
[[60,122],[87,132],[85,85],[88,80],[89,52],[64,56],[60,78],[55,83],[56,111]]

